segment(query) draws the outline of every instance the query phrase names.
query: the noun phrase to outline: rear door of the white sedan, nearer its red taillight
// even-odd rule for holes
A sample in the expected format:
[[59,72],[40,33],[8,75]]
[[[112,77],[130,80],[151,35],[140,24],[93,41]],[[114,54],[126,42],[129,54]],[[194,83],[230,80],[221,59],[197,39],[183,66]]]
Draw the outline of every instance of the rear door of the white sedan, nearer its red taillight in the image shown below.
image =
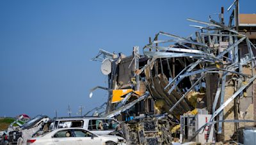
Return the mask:
[[69,144],[76,144],[77,145],[77,140],[76,137],[74,137],[74,134],[72,134],[72,130],[60,130],[56,132],[52,136],[52,142],[55,145],[69,145]]

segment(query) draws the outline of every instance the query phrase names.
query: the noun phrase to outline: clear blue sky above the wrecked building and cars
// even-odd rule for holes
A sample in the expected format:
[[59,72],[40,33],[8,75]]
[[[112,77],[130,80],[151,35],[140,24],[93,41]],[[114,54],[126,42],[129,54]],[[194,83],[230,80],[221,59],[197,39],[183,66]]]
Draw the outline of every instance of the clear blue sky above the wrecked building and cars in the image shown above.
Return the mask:
[[[72,116],[106,102],[107,77],[99,48],[131,55],[159,31],[189,36],[186,18],[208,21],[233,0],[177,1],[0,1],[0,116]],[[240,2],[241,13],[256,13],[256,1]],[[227,16],[227,15],[226,15]],[[227,17],[226,17],[227,20]]]

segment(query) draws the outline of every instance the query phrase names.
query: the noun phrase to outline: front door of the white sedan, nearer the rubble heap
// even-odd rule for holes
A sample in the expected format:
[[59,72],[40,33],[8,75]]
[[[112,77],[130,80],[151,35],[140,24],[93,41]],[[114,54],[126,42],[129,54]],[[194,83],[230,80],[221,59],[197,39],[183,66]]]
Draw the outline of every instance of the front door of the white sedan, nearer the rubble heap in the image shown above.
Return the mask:
[[88,132],[83,129],[74,129],[74,135],[76,135],[77,145],[83,144],[101,144],[101,139],[98,135],[92,134],[92,132]]

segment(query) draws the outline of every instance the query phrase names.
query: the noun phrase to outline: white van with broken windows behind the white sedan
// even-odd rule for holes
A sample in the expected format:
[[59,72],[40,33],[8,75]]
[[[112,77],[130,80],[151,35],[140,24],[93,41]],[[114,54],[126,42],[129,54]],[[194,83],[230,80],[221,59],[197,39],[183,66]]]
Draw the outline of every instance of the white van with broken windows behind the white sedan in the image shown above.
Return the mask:
[[115,131],[119,124],[120,123],[113,118],[60,118],[54,121],[53,130],[56,128],[78,127],[90,130],[93,134],[107,135]]

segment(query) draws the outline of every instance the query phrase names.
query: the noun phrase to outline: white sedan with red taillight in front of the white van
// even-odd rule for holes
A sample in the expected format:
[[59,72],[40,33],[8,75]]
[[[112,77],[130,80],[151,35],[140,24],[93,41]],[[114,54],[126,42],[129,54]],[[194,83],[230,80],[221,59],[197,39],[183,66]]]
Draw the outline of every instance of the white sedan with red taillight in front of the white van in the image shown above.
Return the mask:
[[28,139],[27,144],[37,145],[82,145],[82,144],[126,144],[123,137],[96,135],[83,128],[59,128],[40,137]]

